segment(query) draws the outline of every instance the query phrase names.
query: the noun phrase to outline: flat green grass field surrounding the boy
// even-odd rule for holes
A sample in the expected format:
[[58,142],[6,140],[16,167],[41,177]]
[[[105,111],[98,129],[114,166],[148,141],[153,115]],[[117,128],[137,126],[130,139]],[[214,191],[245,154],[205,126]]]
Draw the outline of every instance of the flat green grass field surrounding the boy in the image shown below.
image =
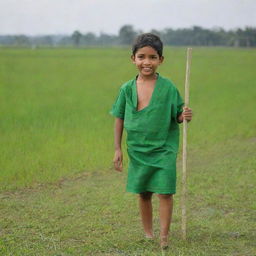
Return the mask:
[[[129,55],[0,49],[0,255],[161,255],[142,239],[126,171],[111,169],[108,112],[136,74]],[[185,49],[164,55],[159,72],[183,94]],[[255,66],[255,49],[193,50],[188,240],[178,173],[166,255],[256,255]]]

